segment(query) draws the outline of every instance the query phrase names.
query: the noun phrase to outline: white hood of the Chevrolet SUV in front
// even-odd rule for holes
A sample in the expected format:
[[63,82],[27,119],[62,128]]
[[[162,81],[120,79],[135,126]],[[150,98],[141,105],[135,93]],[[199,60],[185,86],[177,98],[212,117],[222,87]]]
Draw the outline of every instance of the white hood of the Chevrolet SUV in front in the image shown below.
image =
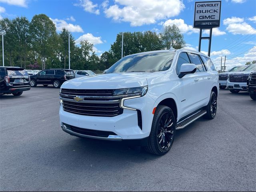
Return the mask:
[[165,72],[127,72],[107,73],[75,78],[64,82],[61,88],[78,89],[122,89],[148,85],[147,78],[159,76]]

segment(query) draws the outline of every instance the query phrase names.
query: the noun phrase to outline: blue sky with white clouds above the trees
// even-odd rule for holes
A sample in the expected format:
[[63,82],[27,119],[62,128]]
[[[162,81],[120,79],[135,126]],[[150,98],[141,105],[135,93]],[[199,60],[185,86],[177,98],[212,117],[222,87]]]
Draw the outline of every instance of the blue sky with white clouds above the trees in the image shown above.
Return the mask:
[[[35,14],[46,14],[57,32],[66,27],[77,43],[84,39],[94,43],[99,56],[110,49],[119,32],[159,33],[164,26],[176,24],[187,48],[198,50],[194,5],[194,0],[0,0],[0,18],[26,16],[31,20]],[[207,54],[207,41],[201,50]],[[225,55],[227,68],[256,60],[256,0],[222,0],[220,28],[213,30],[211,46],[218,69]]]

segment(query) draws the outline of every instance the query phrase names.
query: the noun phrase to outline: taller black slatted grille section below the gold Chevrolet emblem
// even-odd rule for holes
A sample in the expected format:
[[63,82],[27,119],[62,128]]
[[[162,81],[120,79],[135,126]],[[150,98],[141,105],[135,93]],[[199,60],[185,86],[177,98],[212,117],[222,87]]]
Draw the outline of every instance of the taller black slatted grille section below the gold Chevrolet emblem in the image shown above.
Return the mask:
[[113,117],[123,113],[123,109],[120,108],[119,102],[114,104],[79,103],[64,100],[62,102],[64,111],[79,115]]

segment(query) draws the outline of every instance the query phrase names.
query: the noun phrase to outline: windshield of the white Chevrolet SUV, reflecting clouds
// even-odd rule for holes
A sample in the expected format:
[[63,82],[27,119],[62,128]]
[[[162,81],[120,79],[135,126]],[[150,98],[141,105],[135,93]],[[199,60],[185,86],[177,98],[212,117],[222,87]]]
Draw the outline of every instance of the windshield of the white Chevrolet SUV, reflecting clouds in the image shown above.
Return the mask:
[[174,52],[130,55],[120,59],[106,73],[165,71],[170,68],[173,57]]

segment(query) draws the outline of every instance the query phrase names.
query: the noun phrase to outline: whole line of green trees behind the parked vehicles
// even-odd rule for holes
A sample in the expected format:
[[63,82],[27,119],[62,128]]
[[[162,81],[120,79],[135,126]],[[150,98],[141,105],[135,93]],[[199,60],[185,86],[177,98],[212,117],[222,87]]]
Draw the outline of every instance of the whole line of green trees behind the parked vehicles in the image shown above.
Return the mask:
[[[121,58],[122,33],[110,50],[99,57],[94,45],[82,40],[79,45],[72,34],[56,26],[45,14],[35,15],[31,21],[26,17],[0,20],[0,34],[4,34],[5,66],[26,69],[68,68],[68,35],[70,35],[70,68],[75,70],[105,70]],[[166,26],[160,34],[152,31],[124,32],[123,56],[139,52],[184,47],[186,42],[177,26]],[[1,44],[2,45],[2,36]],[[1,49],[2,50],[2,49]],[[2,54],[0,65],[2,66]]]

